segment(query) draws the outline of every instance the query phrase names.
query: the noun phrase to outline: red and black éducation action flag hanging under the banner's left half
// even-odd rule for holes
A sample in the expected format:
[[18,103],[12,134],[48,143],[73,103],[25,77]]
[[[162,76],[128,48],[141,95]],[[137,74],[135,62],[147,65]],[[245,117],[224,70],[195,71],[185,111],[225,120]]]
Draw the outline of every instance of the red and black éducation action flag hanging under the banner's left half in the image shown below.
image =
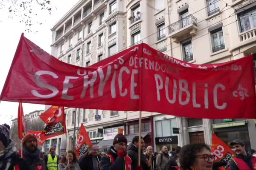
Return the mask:
[[41,133],[41,139],[48,139],[66,133],[64,107],[51,106],[39,117],[46,123]]

